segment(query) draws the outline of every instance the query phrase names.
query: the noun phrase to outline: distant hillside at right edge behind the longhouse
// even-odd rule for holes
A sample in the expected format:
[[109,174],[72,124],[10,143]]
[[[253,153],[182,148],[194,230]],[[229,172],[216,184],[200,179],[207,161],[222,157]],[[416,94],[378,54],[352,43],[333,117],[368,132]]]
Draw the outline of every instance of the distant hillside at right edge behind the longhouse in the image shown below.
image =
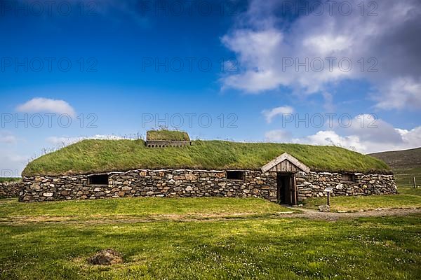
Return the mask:
[[383,160],[392,168],[398,186],[413,186],[414,177],[417,186],[421,186],[421,148],[372,153],[370,156]]

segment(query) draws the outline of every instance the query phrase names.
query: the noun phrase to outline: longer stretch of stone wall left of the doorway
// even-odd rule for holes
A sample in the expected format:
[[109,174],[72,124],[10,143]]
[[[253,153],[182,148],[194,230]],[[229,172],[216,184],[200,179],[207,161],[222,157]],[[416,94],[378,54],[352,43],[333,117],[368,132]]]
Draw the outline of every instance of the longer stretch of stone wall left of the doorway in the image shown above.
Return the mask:
[[24,178],[20,201],[95,200],[106,197],[262,197],[276,201],[276,173],[246,171],[229,180],[225,171],[135,170],[109,173],[108,186],[89,186],[88,176]]

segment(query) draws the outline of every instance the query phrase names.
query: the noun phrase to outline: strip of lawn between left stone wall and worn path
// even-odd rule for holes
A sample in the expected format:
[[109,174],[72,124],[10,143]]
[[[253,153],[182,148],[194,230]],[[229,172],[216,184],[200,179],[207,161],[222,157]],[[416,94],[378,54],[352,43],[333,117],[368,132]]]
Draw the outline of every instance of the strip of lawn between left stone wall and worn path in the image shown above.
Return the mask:
[[286,211],[291,210],[257,198],[139,197],[46,203],[0,200],[0,221],[13,218],[36,221],[46,218],[60,218],[61,221],[93,218],[234,218],[267,216]]

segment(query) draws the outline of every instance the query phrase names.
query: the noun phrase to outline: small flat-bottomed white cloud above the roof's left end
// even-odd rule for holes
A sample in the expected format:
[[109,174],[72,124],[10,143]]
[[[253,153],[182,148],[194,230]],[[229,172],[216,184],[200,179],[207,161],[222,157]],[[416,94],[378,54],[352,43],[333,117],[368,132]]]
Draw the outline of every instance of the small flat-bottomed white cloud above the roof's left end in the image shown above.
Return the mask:
[[72,118],[76,116],[76,111],[74,111],[73,107],[64,100],[48,99],[42,97],[36,97],[25,102],[24,104],[20,104],[16,110],[22,113],[48,112],[67,114]]

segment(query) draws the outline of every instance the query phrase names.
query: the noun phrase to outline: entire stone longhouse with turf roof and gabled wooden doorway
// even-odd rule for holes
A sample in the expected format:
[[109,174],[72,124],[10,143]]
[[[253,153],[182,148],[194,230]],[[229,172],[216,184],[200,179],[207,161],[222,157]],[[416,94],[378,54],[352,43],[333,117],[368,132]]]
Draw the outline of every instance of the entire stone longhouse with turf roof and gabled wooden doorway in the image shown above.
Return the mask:
[[389,167],[345,148],[190,141],[159,130],[143,140],[83,140],[30,162],[20,201],[106,197],[262,197],[297,204],[326,195],[396,193]]

